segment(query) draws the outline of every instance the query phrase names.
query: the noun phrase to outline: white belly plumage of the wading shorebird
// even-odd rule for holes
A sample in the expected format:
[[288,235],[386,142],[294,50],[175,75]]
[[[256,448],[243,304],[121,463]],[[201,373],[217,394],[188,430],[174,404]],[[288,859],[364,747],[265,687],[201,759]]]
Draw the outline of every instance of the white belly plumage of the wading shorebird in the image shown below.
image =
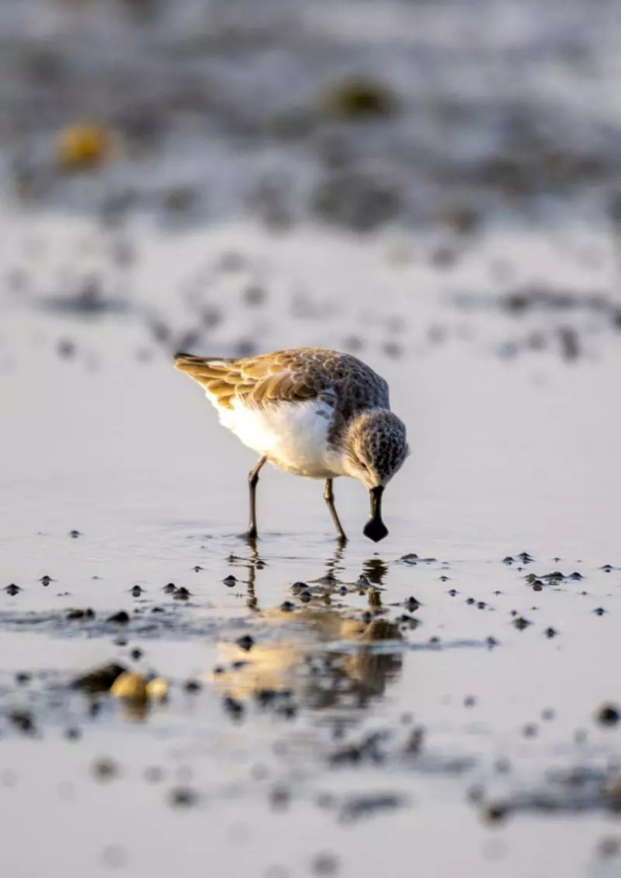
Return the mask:
[[311,479],[346,474],[339,453],[328,447],[333,410],[325,402],[313,399],[246,408],[235,400],[232,408],[217,408],[224,427],[279,469]]

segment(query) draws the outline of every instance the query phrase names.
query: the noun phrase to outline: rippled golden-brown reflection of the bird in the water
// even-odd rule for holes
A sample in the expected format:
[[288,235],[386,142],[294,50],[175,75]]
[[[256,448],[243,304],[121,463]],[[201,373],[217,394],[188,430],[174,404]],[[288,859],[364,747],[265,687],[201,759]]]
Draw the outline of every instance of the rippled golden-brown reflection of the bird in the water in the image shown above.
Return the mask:
[[345,551],[339,546],[322,576],[296,582],[271,608],[257,597],[267,562],[256,544],[248,558],[235,559],[248,572],[249,621],[257,630],[250,648],[244,638],[220,644],[223,660],[213,680],[224,694],[263,703],[284,695],[310,709],[364,707],[384,694],[402,666],[398,624],[389,620],[377,588],[388,566],[371,558],[359,579],[346,582]]

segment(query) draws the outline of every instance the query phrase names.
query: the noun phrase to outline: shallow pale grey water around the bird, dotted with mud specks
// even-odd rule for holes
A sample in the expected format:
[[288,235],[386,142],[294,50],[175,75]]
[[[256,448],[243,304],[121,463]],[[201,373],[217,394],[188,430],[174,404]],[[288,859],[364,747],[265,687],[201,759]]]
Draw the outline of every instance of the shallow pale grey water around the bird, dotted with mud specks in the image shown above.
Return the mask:
[[[605,230],[496,229],[446,271],[434,236],[136,219],[119,268],[95,221],[1,221],[21,272],[0,299],[7,873],[615,874],[621,723],[596,719],[618,704],[621,585]],[[534,283],[610,306],[503,310]],[[336,485],[338,551],[322,486],[275,471],[261,539],[239,537],[253,456],[173,370],[189,331],[203,353],[349,348],[389,379],[412,455],[383,543],[361,535],[361,486]],[[161,675],[168,702],[71,687],[110,661]]]

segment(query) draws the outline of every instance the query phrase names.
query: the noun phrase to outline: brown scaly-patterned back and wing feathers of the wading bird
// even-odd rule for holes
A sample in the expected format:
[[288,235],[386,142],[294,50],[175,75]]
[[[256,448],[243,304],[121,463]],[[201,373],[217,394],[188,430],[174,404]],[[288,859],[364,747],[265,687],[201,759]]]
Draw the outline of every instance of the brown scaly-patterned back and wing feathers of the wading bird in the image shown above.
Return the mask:
[[320,395],[333,401],[344,419],[368,408],[389,408],[389,389],[383,378],[355,356],[333,350],[285,349],[239,360],[179,354],[175,367],[226,408],[232,408],[235,399],[247,407],[263,407]]

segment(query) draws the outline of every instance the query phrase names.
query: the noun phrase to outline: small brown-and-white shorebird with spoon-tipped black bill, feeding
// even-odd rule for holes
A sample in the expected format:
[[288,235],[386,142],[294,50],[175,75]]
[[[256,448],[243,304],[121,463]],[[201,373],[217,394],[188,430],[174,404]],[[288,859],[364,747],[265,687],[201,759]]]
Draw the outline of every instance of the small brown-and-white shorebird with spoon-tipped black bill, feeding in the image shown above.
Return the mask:
[[363,533],[387,536],[382,493],[409,450],[405,426],[390,411],[383,378],[349,354],[290,348],[242,359],[177,354],[175,367],[202,385],[220,423],[260,455],[248,475],[250,524],[257,536],[256,488],[261,467],[325,479],[324,499],[341,542],[333,479],[349,476],[368,488],[371,514]]

